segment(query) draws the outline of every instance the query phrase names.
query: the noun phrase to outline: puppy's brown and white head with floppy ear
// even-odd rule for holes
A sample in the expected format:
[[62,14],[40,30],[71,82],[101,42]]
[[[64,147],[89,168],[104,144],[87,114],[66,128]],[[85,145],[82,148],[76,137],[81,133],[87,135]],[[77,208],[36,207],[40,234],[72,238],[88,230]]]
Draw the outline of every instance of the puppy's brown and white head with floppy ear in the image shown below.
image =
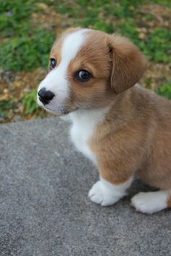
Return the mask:
[[96,30],[67,30],[52,46],[38,104],[59,115],[106,107],[141,78],[146,60],[128,39]]

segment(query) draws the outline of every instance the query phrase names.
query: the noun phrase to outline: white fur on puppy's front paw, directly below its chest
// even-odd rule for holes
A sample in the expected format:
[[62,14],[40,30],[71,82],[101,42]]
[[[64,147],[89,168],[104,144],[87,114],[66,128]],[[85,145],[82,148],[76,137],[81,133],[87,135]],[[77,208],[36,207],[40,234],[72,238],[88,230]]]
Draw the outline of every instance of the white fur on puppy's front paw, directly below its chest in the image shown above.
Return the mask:
[[133,177],[129,178],[128,181],[120,185],[113,185],[103,178],[93,184],[91,190],[88,193],[92,202],[98,205],[107,206],[113,205],[120,198],[126,194],[126,189],[129,188],[133,181]]

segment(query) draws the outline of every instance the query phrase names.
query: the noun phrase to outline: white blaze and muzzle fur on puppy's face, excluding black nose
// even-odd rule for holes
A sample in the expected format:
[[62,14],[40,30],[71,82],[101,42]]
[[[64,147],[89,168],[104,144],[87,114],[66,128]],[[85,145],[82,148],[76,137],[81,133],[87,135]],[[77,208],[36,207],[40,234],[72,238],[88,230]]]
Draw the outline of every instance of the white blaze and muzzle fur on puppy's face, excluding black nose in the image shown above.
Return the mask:
[[63,110],[64,102],[70,96],[70,83],[67,80],[67,67],[70,65],[70,61],[77,55],[80,46],[83,44],[85,39],[86,29],[80,29],[74,33],[69,34],[63,42],[61,52],[61,62],[57,68],[51,70],[46,78],[38,86],[38,91],[45,87],[46,90],[52,91],[55,96],[43,106],[38,99],[38,104],[47,110],[52,112],[61,113]]

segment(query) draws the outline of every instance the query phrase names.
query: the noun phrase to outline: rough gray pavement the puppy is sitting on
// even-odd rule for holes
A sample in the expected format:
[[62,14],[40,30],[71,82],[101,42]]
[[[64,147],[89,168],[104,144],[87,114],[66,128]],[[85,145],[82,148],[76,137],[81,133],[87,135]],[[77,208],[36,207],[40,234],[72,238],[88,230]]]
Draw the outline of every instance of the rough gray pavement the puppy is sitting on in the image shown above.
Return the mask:
[[171,211],[143,215],[130,198],[94,205],[96,168],[75,151],[68,123],[50,117],[0,125],[1,256],[170,256]]

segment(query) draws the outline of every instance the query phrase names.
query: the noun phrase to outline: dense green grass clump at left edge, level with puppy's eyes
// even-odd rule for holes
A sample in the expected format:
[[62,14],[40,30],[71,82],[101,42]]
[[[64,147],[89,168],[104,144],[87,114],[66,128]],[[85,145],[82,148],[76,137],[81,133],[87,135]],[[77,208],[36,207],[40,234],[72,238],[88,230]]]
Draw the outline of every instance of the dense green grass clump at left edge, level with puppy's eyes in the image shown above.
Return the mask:
[[49,51],[54,42],[54,35],[46,30],[34,30],[33,35],[14,37],[1,44],[1,67],[5,70],[34,70],[46,68]]

